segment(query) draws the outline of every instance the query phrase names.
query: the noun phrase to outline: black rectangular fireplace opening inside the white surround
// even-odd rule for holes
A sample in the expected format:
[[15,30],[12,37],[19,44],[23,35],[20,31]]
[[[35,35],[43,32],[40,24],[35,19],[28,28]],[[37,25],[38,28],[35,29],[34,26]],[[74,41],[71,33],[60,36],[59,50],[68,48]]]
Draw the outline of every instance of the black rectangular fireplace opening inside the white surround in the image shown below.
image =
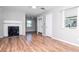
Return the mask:
[[19,26],[8,26],[8,36],[19,36]]

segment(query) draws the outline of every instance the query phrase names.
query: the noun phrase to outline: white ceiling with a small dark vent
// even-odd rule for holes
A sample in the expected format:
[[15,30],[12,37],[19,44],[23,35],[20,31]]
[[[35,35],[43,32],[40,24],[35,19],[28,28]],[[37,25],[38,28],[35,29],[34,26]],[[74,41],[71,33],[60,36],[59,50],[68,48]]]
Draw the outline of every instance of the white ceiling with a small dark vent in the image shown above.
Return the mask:
[[[16,11],[21,11],[25,12],[27,15],[33,15],[37,16],[43,12],[47,12],[49,10],[53,10],[56,6],[37,6],[36,9],[33,9],[32,6],[2,6],[5,10],[16,10]],[[42,10],[40,8],[45,8],[45,10]]]

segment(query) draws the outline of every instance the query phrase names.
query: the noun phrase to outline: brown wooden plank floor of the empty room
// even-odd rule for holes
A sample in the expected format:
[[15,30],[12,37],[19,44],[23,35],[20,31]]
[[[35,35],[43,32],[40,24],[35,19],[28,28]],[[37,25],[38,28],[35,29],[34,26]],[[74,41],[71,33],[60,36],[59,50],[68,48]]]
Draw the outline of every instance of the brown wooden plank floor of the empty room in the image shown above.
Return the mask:
[[[27,35],[28,36],[28,35]],[[49,37],[33,34],[27,36],[5,37],[0,39],[0,52],[77,52],[79,47],[63,43]]]

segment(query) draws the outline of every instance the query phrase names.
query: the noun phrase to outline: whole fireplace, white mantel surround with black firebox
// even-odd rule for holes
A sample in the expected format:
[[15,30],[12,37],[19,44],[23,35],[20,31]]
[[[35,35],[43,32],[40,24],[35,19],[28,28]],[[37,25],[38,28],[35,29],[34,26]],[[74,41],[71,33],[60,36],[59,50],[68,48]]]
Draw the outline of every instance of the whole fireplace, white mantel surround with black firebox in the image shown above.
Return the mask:
[[4,36],[19,36],[23,35],[21,21],[4,21]]

